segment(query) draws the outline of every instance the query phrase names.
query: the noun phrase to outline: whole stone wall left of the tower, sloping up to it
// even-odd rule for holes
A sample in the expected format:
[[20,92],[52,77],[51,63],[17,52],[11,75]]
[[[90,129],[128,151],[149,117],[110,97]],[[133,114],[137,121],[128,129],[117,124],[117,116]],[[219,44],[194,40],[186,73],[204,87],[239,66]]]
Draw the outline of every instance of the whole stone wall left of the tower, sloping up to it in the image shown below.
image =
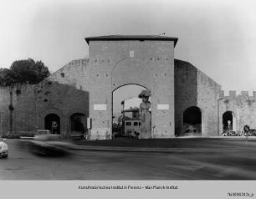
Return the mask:
[[[71,115],[89,116],[89,92],[84,84],[88,63],[88,59],[74,60],[39,84],[1,88],[1,133],[44,129],[45,116],[56,114],[60,117],[61,133],[68,134]],[[13,110],[9,110],[9,105]]]

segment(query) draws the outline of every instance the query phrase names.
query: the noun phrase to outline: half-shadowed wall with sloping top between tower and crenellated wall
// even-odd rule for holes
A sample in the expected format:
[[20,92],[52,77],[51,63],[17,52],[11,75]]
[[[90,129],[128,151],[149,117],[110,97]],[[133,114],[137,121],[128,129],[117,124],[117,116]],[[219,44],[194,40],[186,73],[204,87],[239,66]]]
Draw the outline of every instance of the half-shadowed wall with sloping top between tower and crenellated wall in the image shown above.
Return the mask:
[[192,64],[175,60],[176,134],[184,130],[183,113],[196,106],[202,113],[202,136],[218,135],[218,94],[221,86]]

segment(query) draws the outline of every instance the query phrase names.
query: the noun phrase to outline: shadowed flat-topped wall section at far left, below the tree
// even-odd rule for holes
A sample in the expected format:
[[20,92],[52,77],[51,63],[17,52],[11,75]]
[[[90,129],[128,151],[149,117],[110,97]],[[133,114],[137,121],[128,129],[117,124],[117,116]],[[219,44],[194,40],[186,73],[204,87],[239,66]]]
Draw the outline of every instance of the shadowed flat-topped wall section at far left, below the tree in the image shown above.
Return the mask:
[[1,134],[35,130],[34,86],[15,85],[0,90],[0,112],[3,113]]

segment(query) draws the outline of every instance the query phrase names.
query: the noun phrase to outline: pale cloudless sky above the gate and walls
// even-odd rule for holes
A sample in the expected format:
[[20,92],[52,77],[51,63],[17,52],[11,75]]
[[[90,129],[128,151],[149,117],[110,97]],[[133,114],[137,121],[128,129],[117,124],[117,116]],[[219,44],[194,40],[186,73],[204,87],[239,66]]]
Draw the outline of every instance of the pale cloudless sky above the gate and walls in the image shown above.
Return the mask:
[[84,58],[84,38],[160,34],[179,38],[175,58],[225,90],[256,90],[254,0],[0,0],[0,68],[42,60],[51,72]]

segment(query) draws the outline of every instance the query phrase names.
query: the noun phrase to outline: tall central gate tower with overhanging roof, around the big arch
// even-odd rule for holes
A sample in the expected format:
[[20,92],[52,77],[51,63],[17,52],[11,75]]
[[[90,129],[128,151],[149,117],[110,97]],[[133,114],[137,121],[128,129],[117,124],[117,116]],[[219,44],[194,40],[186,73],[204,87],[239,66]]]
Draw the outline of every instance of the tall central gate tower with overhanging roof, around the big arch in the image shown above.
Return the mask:
[[90,92],[91,139],[111,139],[112,93],[125,84],[151,90],[152,137],[173,137],[177,38],[103,36],[85,40],[90,45],[85,84]]

